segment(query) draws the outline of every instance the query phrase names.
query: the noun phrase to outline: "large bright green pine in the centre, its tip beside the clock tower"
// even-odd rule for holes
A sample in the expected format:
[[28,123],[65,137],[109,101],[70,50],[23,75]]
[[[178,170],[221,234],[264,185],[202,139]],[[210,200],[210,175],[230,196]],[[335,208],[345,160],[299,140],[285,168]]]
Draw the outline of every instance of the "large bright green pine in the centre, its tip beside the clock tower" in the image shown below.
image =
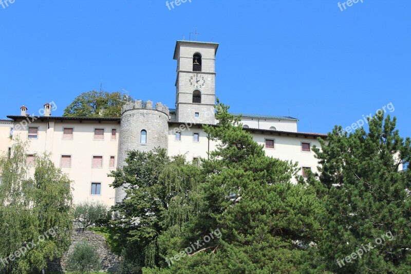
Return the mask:
[[[238,117],[217,101],[217,126],[204,126],[219,142],[202,159],[200,186],[204,205],[190,221],[185,241],[175,253],[219,229],[220,239],[204,243],[183,262],[153,272],[295,272],[302,254],[317,240],[323,208],[314,189],[293,184],[296,164],[265,155],[263,146],[242,130]],[[149,273],[149,272],[148,272]]]

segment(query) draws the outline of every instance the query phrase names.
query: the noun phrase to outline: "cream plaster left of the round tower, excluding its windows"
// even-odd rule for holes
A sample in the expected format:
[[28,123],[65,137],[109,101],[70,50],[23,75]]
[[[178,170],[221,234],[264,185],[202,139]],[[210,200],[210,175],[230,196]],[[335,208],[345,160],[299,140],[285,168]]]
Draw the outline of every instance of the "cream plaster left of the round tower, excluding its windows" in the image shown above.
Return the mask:
[[[29,140],[28,154],[51,152],[51,159],[56,167],[60,167],[61,155],[71,155],[71,167],[62,168],[74,180],[72,187],[74,203],[84,200],[98,200],[108,206],[114,205],[115,191],[109,187],[113,178],[107,177],[110,156],[115,156],[117,166],[118,137],[120,124],[112,121],[47,121],[40,119],[29,126],[39,126],[38,139]],[[73,140],[63,140],[63,127],[73,127]],[[104,128],[104,140],[94,140],[94,129]],[[111,140],[111,129],[117,129],[116,140]],[[27,127],[16,130],[14,136],[27,140]],[[92,156],[103,156],[103,168],[91,168]],[[91,195],[91,182],[101,182],[101,195]]]

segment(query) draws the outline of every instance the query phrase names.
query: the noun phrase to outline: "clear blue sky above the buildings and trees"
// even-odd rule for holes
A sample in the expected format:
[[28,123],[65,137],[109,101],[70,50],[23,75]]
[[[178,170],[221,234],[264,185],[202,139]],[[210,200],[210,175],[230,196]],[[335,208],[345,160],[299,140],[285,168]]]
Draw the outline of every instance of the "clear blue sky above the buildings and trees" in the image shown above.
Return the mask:
[[298,131],[327,133],[392,103],[401,136],[411,135],[408,0],[363,0],[343,11],[334,0],[191,0],[171,10],[163,0],[8,5],[0,5],[0,118],[23,104],[37,114],[50,101],[60,116],[101,81],[108,92],[174,108],[175,43],[197,28],[198,41],[220,44],[216,95],[232,112],[290,114]]

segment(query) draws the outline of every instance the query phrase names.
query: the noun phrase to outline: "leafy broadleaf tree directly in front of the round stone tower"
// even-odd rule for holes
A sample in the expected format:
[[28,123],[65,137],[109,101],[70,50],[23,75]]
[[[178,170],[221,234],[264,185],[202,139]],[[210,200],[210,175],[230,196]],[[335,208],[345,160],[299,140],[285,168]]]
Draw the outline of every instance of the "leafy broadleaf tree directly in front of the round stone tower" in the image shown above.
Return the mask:
[[[118,217],[108,229],[123,251],[123,271],[164,264],[160,255],[167,241],[162,234],[181,235],[194,215],[198,166],[186,165],[183,157],[170,159],[165,150],[130,151],[127,165],[111,172],[114,187],[125,187],[127,196],[114,207]],[[119,217],[121,216],[121,217]],[[164,244],[164,246],[163,246]]]

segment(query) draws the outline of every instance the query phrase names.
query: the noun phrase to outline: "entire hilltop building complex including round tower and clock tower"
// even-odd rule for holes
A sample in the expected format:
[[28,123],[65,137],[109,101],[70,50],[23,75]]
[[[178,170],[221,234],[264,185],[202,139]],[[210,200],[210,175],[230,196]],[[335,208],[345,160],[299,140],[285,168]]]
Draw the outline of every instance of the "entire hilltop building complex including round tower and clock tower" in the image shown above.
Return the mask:
[[[51,153],[57,167],[73,180],[74,203],[101,201],[108,206],[124,198],[122,189],[114,189],[107,174],[125,164],[128,150],[150,151],[165,148],[169,156],[184,154],[188,161],[207,158],[216,143],[207,138],[202,124],[216,124],[215,56],[217,43],[177,41],[176,108],[136,100],[122,108],[121,118],[53,117],[49,104],[44,116],[21,115],[0,120],[0,150],[9,153],[10,135],[29,140],[27,165],[35,155]],[[297,132],[298,120],[292,117],[245,114],[244,129],[264,145],[268,156],[298,162],[301,168],[316,172],[317,161],[311,151],[318,137]],[[301,171],[304,175],[304,169]]]

